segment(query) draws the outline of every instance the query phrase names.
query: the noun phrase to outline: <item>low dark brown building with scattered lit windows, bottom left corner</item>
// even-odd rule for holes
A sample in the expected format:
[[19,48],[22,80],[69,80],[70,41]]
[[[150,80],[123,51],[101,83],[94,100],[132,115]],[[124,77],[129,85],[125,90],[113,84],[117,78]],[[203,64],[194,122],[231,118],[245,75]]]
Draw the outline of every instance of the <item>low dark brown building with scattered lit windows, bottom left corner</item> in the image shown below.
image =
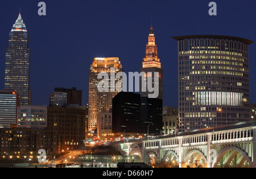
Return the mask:
[[[28,163],[29,159],[38,162],[38,151],[46,151],[47,159],[52,159],[57,154],[58,143],[56,131],[34,130],[31,128],[14,127],[11,129],[0,129],[0,155],[10,156],[24,160]],[[60,153],[60,152],[59,152]]]

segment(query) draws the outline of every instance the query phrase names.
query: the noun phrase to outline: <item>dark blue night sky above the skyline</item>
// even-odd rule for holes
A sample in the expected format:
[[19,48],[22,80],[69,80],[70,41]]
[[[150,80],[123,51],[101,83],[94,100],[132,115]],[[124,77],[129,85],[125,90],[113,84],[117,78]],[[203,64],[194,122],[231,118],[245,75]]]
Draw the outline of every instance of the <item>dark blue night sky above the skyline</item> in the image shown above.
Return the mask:
[[[208,0],[196,1],[1,1],[0,90],[5,50],[12,25],[21,14],[30,35],[33,105],[48,105],[55,87],[77,87],[88,103],[88,70],[94,57],[119,57],[126,72],[139,71],[145,55],[150,17],[164,69],[164,105],[177,106],[177,41],[181,35],[226,35],[256,41],[256,1],[222,0],[209,16]],[[256,44],[250,45],[250,99],[256,103]]]

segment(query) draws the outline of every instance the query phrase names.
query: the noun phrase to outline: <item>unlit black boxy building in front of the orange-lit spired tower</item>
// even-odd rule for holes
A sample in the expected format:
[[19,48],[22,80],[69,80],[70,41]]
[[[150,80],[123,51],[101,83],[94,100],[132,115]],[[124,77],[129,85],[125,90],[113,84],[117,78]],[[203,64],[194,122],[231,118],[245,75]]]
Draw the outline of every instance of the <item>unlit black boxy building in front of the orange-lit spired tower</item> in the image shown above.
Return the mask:
[[119,92],[113,98],[113,133],[160,134],[163,124],[163,101],[132,92]]

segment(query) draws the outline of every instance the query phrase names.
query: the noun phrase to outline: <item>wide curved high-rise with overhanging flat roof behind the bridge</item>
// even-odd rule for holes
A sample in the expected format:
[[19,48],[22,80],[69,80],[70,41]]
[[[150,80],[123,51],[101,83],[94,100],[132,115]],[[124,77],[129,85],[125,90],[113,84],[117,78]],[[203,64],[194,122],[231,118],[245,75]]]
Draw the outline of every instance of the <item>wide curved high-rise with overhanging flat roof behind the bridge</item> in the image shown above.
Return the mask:
[[179,130],[249,120],[248,46],[230,36],[179,36]]

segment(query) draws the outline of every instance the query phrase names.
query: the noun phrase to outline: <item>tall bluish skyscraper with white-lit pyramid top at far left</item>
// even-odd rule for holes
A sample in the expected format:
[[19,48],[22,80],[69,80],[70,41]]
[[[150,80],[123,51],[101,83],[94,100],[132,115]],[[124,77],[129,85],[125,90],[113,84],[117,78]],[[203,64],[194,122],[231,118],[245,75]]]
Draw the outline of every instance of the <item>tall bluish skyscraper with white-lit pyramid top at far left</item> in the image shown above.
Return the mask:
[[15,90],[20,95],[20,105],[31,105],[30,48],[26,25],[19,14],[6,49],[5,90]]

